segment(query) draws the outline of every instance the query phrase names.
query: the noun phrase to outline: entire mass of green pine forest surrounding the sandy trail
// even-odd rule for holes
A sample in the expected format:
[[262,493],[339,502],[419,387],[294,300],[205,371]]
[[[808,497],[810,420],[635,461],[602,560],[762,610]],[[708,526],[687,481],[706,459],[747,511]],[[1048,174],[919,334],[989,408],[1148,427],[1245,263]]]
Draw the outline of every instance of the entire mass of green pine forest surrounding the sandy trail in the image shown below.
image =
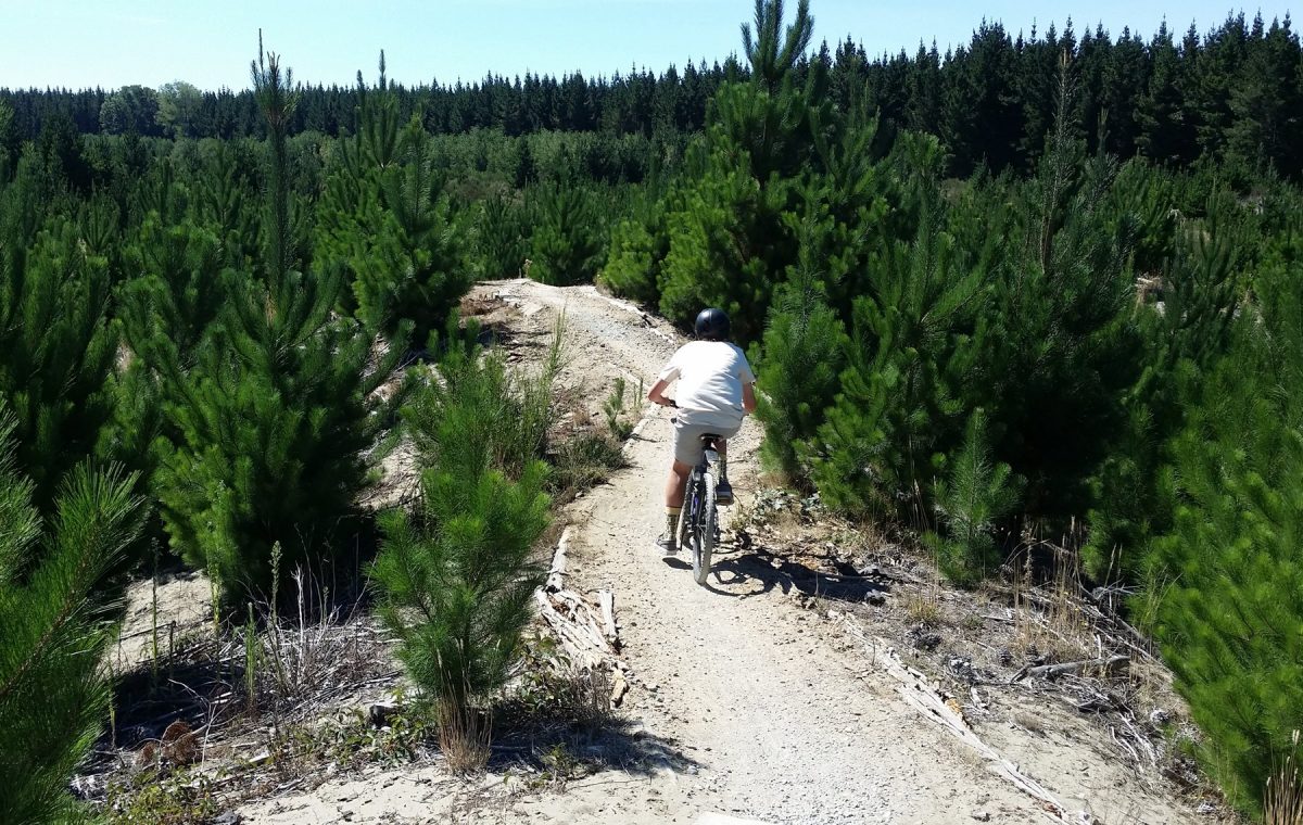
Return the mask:
[[[770,467],[956,583],[1052,547],[1128,594],[1203,731],[1178,747],[1256,811],[1303,729],[1289,21],[1148,44],[984,25],[881,60],[812,36],[805,0],[786,26],[757,0],[744,63],[683,76],[408,90],[382,56],[378,82],[327,91],[259,55],[251,93],[0,94],[0,615],[48,607],[0,637],[0,699],[69,673],[94,699],[76,730],[0,743],[35,765],[0,774],[66,802],[103,693],[42,623],[102,649],[151,546],[229,611],[379,543],[418,680],[474,700],[437,669],[456,626],[486,640],[457,653],[476,684],[500,684],[550,387],[455,313],[474,280],[528,275],[684,328],[724,308]],[[422,502],[377,525],[358,500],[404,433]]]

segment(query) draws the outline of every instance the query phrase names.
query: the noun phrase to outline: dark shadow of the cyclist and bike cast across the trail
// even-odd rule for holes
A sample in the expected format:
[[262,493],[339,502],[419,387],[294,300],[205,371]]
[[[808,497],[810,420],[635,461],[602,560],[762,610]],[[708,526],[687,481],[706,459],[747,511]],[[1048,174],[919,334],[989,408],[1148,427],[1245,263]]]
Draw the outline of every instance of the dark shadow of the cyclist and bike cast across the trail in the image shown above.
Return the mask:
[[[692,570],[684,557],[666,558],[665,563],[679,570]],[[873,601],[886,596],[891,583],[882,576],[865,576],[846,562],[831,562],[831,571],[812,570],[791,558],[775,555],[764,547],[737,550],[723,546],[715,550],[705,589],[719,596],[745,598],[773,590],[842,602]]]

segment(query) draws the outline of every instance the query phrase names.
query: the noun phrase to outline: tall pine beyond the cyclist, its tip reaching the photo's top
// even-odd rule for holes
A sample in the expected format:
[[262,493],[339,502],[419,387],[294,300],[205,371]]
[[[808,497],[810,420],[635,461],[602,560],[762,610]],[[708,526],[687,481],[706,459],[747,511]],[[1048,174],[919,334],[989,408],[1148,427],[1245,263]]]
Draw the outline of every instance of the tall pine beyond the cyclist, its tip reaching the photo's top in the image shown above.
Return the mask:
[[744,345],[764,335],[774,289],[797,261],[797,222],[788,216],[799,211],[803,176],[817,167],[812,132],[831,111],[821,94],[825,68],[803,63],[813,33],[808,3],[786,31],[782,16],[780,1],[757,0],[754,31],[743,26],[749,81],[711,98],[685,182],[649,210],[641,232],[616,229],[607,265],[612,288],[654,296],[684,326],[702,306],[724,309]]

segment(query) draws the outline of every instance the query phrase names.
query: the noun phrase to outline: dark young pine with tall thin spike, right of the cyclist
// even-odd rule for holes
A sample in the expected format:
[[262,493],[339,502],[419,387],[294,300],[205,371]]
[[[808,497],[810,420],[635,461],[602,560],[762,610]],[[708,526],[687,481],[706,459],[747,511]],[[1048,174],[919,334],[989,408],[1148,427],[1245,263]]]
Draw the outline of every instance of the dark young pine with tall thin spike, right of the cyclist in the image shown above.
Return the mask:
[[[1126,430],[1143,369],[1134,323],[1135,219],[1110,211],[1117,163],[1072,137],[1065,65],[1054,134],[1036,176],[1015,188],[1022,249],[995,282],[990,395],[997,460],[1027,480],[1035,517],[1091,506],[1091,482]],[[1006,193],[1003,197],[1009,197]]]

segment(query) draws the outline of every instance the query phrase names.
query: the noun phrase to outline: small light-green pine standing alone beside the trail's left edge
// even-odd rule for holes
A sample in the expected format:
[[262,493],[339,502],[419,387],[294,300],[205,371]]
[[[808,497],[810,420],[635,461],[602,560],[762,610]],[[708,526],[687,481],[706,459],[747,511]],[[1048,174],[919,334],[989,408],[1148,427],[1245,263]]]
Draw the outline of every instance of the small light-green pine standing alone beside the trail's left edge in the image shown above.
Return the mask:
[[[546,467],[528,438],[495,438],[537,404],[498,356],[452,349],[442,386],[408,411],[417,422],[422,504],[382,517],[371,570],[399,658],[438,702],[442,734],[465,734],[473,704],[506,684],[545,570],[532,560],[549,523]],[[450,744],[444,742],[444,744]]]

